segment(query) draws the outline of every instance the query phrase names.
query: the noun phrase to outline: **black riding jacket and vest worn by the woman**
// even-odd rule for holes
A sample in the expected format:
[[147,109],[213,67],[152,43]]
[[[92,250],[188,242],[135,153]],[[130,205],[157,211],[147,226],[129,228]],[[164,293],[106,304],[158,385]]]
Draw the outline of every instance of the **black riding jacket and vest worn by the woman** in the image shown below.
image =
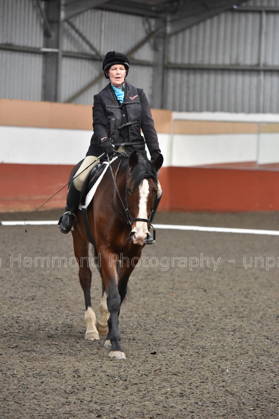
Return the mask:
[[123,103],[117,100],[111,84],[94,96],[94,134],[87,156],[100,156],[103,153],[103,149],[99,146],[100,140],[109,136],[112,118],[115,118],[113,144],[116,148],[124,145],[128,152],[138,150],[140,154],[145,154],[146,143],[150,154],[154,151],[160,153],[157,133],[145,93],[142,89],[137,89],[125,82]]

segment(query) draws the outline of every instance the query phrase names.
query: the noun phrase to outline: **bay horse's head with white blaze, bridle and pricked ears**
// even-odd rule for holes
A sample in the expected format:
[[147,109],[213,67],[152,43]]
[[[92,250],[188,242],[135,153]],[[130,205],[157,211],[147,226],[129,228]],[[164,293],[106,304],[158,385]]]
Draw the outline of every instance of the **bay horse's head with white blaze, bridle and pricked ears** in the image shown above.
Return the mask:
[[129,158],[126,204],[132,224],[131,238],[135,244],[143,245],[149,236],[158,191],[158,172],[162,164],[162,155],[153,162],[139,157],[137,152],[133,152]]

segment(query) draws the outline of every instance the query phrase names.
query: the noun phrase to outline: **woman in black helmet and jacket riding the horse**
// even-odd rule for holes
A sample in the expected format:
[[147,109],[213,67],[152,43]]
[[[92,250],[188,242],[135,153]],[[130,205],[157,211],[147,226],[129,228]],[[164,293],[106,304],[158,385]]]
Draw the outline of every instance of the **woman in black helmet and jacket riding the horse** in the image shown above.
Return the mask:
[[[145,143],[151,160],[160,154],[157,133],[145,93],[142,89],[137,89],[126,81],[129,67],[129,59],[123,52],[110,51],[106,54],[103,71],[110,83],[94,96],[94,134],[86,157],[68,189],[66,212],[59,220],[59,228],[62,233],[67,234],[71,230],[72,223],[76,218],[75,212],[79,206],[83,182],[94,164],[98,163],[98,156],[104,152],[111,156],[115,150],[126,153],[137,150],[139,154],[146,157]],[[114,145],[108,135],[112,118],[115,118]],[[141,136],[140,130],[144,138]],[[93,162],[95,163],[93,164]],[[84,170],[88,166],[90,167]],[[159,189],[156,207],[160,196],[161,190]],[[148,241],[149,243],[154,242],[151,236]]]

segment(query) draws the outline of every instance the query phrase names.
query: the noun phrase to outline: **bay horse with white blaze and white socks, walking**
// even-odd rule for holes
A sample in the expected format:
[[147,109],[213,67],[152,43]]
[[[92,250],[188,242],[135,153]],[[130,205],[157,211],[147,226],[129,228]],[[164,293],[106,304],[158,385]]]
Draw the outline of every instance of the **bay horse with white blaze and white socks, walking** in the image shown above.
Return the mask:
[[[95,258],[102,279],[100,317],[91,305],[89,239],[81,211],[72,230],[74,253],[79,264],[79,280],[85,298],[85,339],[99,340],[107,335],[105,346],[111,358],[125,359],[118,328],[121,304],[127,293],[129,277],[139,261],[149,236],[158,172],[163,163],[159,155],[153,162],[137,152],[123,154],[111,163],[87,209]],[[95,263],[94,263],[95,265]]]

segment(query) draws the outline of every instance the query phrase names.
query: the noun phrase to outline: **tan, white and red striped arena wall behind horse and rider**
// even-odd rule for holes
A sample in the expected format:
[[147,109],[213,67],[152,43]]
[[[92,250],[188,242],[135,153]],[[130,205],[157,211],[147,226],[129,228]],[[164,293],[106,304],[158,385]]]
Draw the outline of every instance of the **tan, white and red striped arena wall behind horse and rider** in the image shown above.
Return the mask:
[[[279,116],[152,109],[161,211],[279,210]],[[0,211],[34,210],[68,182],[92,107],[0,99]],[[62,208],[67,187],[45,204]]]

